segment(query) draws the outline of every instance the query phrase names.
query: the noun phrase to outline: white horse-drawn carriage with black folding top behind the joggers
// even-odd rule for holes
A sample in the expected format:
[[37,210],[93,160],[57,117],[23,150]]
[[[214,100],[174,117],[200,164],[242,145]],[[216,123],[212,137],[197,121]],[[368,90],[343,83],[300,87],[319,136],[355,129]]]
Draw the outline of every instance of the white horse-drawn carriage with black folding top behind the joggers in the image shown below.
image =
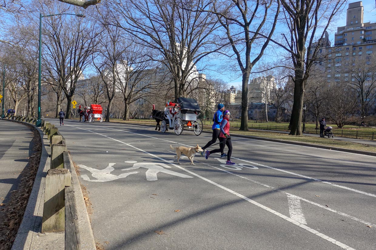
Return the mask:
[[192,98],[177,98],[177,103],[168,102],[159,117],[162,120],[161,131],[165,133],[167,131],[167,126],[173,129],[175,133],[179,136],[184,129],[192,128],[196,136],[202,133],[202,120],[198,118],[201,113],[199,104],[195,99]]

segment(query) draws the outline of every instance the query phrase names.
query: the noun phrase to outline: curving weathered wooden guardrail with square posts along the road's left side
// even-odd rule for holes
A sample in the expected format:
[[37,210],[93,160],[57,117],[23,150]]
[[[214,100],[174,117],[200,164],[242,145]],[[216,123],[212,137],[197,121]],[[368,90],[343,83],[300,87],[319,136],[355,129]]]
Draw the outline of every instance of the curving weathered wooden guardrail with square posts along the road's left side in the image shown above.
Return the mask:
[[[36,118],[6,115],[6,119],[36,124]],[[41,130],[50,139],[51,162],[44,191],[42,232],[65,231],[65,250],[80,250],[78,214],[74,196],[70,156],[64,137],[55,125],[42,120]]]

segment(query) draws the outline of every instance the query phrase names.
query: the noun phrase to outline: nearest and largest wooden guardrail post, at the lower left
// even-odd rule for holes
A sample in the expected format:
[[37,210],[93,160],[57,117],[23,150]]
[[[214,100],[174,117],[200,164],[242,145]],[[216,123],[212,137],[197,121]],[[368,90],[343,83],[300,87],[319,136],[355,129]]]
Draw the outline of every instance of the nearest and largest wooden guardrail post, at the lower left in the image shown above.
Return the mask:
[[68,169],[50,169],[47,172],[44,191],[42,233],[65,230],[64,189],[70,186]]

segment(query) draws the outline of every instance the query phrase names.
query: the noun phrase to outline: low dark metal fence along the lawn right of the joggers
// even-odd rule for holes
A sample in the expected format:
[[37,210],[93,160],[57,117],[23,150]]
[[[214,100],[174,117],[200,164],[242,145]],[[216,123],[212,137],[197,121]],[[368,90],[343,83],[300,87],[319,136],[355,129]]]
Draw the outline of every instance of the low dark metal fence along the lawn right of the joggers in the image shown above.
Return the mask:
[[[240,128],[239,123],[235,123],[235,126],[231,124],[233,128]],[[288,125],[285,126],[278,126],[278,125],[268,125],[268,124],[250,124],[248,125],[249,129],[257,129],[257,130],[275,130],[275,131],[286,131],[288,132]],[[356,138],[356,139],[365,139],[365,140],[376,140],[376,133],[375,132],[364,132],[359,130],[343,130],[343,129],[333,129],[332,130],[334,136],[341,136],[341,137],[349,137],[349,138]],[[307,134],[320,134],[320,129],[316,128],[306,128],[305,133]]]

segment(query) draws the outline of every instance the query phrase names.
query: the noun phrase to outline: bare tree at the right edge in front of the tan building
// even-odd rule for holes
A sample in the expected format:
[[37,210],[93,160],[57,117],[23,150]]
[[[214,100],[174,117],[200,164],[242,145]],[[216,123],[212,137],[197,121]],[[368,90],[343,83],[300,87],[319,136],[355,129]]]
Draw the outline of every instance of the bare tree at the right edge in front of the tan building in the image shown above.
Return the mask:
[[346,64],[341,78],[357,93],[362,119],[368,116],[368,109],[376,99],[376,57],[362,55]]

